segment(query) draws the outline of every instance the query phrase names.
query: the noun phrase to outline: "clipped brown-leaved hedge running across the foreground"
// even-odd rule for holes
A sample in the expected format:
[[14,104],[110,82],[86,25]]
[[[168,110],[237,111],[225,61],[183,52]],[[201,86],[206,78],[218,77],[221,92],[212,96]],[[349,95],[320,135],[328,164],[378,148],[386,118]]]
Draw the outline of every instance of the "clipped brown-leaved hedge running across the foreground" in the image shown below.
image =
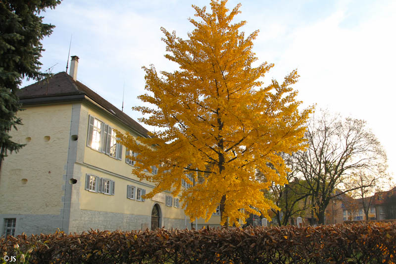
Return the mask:
[[396,263],[396,223],[56,232],[0,238],[0,256],[33,248],[30,263]]

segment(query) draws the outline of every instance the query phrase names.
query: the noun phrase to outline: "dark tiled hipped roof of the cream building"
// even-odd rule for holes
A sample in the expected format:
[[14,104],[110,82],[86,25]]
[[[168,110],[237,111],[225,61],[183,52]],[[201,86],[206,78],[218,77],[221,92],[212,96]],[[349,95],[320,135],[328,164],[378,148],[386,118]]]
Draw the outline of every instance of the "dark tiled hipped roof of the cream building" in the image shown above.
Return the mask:
[[74,81],[66,72],[54,74],[51,78],[41,80],[32,85],[26,86],[17,92],[22,105],[33,105],[43,103],[56,103],[66,101],[79,101],[89,97],[97,104],[111,112],[125,125],[148,137],[148,130],[141,124],[133,120],[129,115],[122,112],[117,107],[110,104],[90,88]]

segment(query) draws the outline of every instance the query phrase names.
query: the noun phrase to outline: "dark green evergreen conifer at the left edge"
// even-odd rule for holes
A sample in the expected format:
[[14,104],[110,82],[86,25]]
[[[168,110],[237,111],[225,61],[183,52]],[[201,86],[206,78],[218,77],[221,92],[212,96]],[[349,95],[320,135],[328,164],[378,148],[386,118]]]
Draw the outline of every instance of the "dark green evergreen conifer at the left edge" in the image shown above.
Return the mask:
[[52,33],[51,24],[43,23],[40,13],[54,8],[59,0],[1,0],[0,1],[0,168],[7,152],[17,152],[24,145],[12,141],[9,132],[22,120],[16,95],[22,79],[40,80],[41,40]]

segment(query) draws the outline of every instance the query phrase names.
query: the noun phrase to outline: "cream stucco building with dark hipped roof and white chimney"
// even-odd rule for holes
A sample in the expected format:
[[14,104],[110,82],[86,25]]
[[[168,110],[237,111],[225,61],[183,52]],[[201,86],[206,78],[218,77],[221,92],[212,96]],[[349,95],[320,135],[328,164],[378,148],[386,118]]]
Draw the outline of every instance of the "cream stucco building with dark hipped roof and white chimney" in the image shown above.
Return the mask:
[[[12,136],[26,146],[1,166],[0,235],[191,228],[180,197],[142,198],[154,186],[131,173],[114,129],[136,137],[148,131],[77,81],[77,63],[73,56],[70,75],[60,72],[20,90],[23,125]],[[219,218],[199,219],[197,226],[215,226]]]

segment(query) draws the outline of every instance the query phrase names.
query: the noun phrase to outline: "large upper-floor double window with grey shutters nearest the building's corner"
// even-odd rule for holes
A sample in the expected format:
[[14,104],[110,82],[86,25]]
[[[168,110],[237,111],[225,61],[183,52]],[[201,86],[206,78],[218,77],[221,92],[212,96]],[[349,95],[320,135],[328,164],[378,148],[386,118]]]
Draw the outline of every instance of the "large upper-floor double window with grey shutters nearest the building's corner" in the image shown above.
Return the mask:
[[113,158],[122,157],[122,145],[117,143],[115,130],[92,115],[89,116],[87,146]]

